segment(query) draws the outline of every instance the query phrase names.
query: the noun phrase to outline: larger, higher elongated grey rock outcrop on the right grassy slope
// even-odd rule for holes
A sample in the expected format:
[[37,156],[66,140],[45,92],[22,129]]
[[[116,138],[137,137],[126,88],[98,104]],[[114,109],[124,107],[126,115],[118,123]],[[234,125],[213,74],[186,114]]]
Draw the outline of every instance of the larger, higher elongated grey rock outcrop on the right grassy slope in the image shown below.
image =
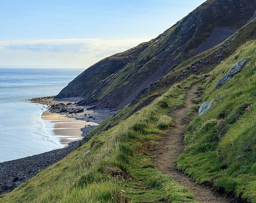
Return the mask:
[[216,86],[217,87],[222,86],[223,84],[225,84],[226,82],[231,80],[233,78],[234,74],[240,72],[242,70],[242,68],[244,67],[244,65],[247,63],[247,58],[243,58],[239,62],[234,64],[232,66],[232,69],[230,71],[228,71],[227,73],[225,73],[223,75],[223,77],[220,80],[217,81],[217,85]]

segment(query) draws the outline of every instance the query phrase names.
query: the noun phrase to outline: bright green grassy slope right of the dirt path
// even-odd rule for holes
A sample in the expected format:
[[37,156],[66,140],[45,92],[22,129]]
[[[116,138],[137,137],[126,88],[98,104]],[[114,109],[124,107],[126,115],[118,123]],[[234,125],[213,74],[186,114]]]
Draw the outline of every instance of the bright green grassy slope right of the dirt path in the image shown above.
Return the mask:
[[[204,81],[202,98],[214,99],[214,105],[188,126],[186,149],[178,162],[197,182],[213,182],[251,202],[256,202],[255,51],[256,41],[247,42]],[[216,89],[216,81],[247,56],[251,58],[242,71]]]

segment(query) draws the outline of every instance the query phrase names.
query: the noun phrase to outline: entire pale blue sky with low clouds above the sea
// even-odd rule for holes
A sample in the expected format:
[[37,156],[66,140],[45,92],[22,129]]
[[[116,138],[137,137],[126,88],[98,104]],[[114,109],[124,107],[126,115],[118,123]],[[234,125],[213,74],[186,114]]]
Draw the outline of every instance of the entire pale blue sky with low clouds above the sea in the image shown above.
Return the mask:
[[205,0],[0,0],[0,67],[88,68]]

